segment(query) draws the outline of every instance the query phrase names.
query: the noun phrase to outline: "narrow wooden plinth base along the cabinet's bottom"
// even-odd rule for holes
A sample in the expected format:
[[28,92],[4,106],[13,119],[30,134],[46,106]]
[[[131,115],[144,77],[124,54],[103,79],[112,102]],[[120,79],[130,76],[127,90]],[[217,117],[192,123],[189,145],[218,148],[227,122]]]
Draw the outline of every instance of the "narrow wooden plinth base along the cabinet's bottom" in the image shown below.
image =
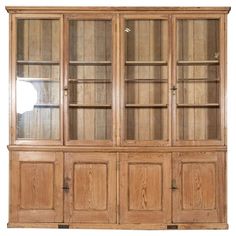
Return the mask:
[[[65,227],[62,227],[65,225]],[[60,227],[59,227],[60,226]],[[228,229],[226,223],[188,224],[80,224],[80,223],[8,223],[8,228],[78,228],[78,229]]]

